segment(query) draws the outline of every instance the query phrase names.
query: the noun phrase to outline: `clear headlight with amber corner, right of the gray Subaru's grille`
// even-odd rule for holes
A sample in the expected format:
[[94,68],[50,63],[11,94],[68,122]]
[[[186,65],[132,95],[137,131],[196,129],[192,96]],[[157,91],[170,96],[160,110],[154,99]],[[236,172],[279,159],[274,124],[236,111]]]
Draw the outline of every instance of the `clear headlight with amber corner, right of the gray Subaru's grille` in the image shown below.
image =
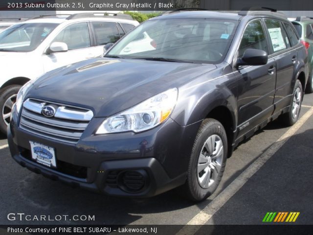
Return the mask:
[[177,88],[157,94],[118,115],[102,122],[96,134],[145,131],[170,117],[178,96]]

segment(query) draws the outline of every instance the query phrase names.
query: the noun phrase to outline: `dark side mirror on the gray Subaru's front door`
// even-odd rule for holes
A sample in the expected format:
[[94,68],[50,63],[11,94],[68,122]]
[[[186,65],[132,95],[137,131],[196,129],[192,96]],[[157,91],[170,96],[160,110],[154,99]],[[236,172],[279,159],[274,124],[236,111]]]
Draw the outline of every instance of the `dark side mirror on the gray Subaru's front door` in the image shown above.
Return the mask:
[[236,67],[243,65],[266,65],[268,63],[268,53],[259,49],[246,49],[243,57],[238,58]]

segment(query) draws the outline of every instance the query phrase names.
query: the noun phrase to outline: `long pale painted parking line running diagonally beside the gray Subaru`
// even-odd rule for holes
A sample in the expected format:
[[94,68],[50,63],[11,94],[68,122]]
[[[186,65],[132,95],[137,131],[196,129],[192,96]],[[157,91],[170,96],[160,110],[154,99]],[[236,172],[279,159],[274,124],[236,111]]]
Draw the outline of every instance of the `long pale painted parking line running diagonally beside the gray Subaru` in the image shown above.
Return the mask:
[[[204,209],[196,214],[187,225],[204,225],[221,207],[256,173],[268,159],[280,149],[292,135],[312,116],[313,107],[309,109],[284,135],[274,142],[260,157],[246,168],[228,187],[226,187],[216,198],[212,200]],[[193,235],[200,226],[187,226],[179,230],[177,235]]]

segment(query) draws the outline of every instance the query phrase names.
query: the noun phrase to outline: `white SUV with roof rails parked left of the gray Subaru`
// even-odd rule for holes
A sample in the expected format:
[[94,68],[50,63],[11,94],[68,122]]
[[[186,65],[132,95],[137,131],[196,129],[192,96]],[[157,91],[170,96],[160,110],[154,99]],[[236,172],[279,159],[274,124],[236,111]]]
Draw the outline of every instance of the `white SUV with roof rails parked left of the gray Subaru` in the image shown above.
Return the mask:
[[41,16],[0,33],[0,131],[6,133],[19,89],[45,72],[103,55],[139,23],[129,15]]

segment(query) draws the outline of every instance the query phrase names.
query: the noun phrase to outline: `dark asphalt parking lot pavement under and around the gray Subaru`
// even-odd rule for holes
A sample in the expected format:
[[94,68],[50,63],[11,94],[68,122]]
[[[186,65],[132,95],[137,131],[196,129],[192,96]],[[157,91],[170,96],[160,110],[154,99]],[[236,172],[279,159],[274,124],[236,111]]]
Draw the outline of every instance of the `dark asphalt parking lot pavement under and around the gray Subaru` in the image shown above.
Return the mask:
[[[202,224],[262,224],[267,211],[299,211],[294,224],[312,224],[313,116],[307,113],[312,112],[312,107],[313,94],[306,94],[300,117],[306,120],[302,119],[303,122],[297,128],[287,128],[275,120],[242,142],[227,160],[224,177],[217,191],[199,204],[186,201],[177,190],[153,198],[130,199],[70,188],[17,164],[11,158],[5,145],[7,141],[2,136],[0,224],[183,225],[199,221]],[[290,130],[292,135],[286,139]],[[277,151],[272,151],[274,144]],[[269,153],[268,160],[254,174],[249,177],[241,175],[265,153]],[[234,189],[239,179],[245,181],[242,187]],[[213,214],[207,212],[210,208],[214,209]],[[52,216],[85,214],[95,215],[95,220],[9,221],[7,214],[10,212]]]

